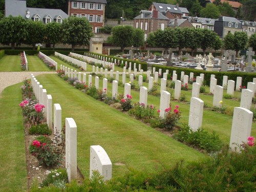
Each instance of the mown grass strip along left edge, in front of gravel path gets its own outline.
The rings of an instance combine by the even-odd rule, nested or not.
[[[19,102],[21,83],[6,88],[0,97],[0,191],[27,189],[25,136]]]

